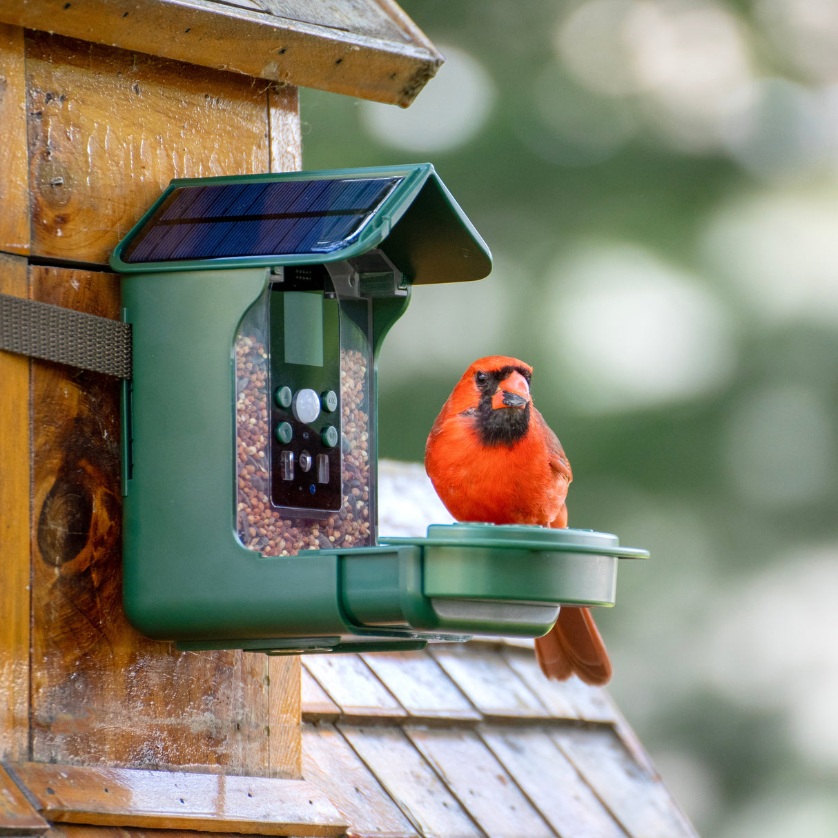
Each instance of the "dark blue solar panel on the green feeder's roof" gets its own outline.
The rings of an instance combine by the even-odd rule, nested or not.
[[[349,245],[402,177],[179,186],[127,247],[126,262],[330,253]]]

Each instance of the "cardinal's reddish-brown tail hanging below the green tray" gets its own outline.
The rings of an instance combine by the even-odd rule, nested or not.
[[[547,678],[566,680],[576,673],[592,686],[611,680],[611,661],[587,608],[563,605],[556,625],[535,640],[535,657]]]

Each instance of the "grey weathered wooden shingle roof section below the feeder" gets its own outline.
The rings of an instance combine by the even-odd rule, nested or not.
[[[608,693],[502,640],[303,658],[303,774],[357,838],[689,838]]]

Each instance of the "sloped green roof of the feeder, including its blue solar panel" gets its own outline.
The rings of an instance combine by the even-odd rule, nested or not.
[[[176,179],[116,246],[111,266],[305,265],[375,247],[415,284],[482,279],[492,267],[430,163]]]

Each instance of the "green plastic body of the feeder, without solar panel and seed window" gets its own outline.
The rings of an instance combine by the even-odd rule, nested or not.
[[[328,262],[337,297],[354,294],[369,306],[365,405],[373,428],[375,362],[411,287],[484,277],[488,249],[429,164],[237,178],[382,172],[403,173],[401,187],[361,241],[319,260]],[[282,270],[313,259],[122,261],[133,235],[171,189],[235,180],[174,181],[111,260],[122,272],[123,314],[133,334],[133,377],[122,406],[123,602],[132,625],[182,649],[418,649],[428,640],[474,634],[541,636],[562,603],[613,605],[618,558],[646,555],[618,546],[614,535],[439,525],[424,539],[381,543],[374,489],[363,542],[265,555],[259,541],[247,538],[240,516],[235,348],[248,313],[282,280]],[[358,259],[370,251],[383,254],[393,271],[365,272]],[[358,287],[341,291],[352,277]],[[373,435],[373,474],[376,457]]]

